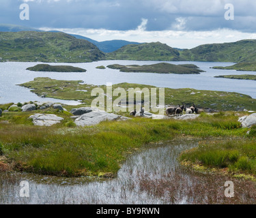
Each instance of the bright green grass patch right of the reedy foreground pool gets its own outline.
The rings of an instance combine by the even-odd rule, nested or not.
[[[203,141],[197,149],[182,153],[180,159],[210,168],[256,175],[256,142],[249,138]]]

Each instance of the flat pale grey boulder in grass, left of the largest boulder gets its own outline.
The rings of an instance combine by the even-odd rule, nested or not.
[[[63,118],[56,116],[55,114],[34,114],[29,116],[29,119],[33,119],[34,125],[39,126],[51,126],[60,123]]]

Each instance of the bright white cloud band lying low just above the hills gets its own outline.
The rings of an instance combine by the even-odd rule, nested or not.
[[[145,23],[145,22],[144,22]],[[236,42],[238,40],[256,39],[256,33],[242,33],[231,29],[214,31],[116,31],[106,29],[51,29],[65,33],[83,35],[99,42],[105,40],[128,40],[132,42],[162,42],[175,48],[194,48],[201,44]]]

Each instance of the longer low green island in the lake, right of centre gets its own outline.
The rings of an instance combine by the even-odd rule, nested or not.
[[[171,63],[156,63],[152,65],[108,65],[111,69],[119,69],[120,72],[156,73],[156,74],[200,74],[203,70],[197,65],[174,65]]]

